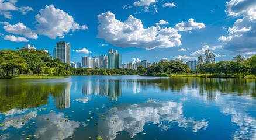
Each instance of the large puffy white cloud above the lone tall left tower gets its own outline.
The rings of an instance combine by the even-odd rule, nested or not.
[[[65,34],[71,30],[88,29],[88,26],[79,25],[72,16],[63,10],[56,9],[54,5],[46,5],[45,9],[41,9],[36,15],[37,33],[48,36],[51,39],[56,37],[64,38]]]

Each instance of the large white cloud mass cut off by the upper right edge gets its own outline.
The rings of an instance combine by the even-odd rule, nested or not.
[[[231,0],[227,2],[228,16],[243,17],[229,27],[228,35],[219,37],[223,48],[235,53],[245,53],[256,49],[256,1]]]

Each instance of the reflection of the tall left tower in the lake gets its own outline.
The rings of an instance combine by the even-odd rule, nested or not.
[[[67,86],[61,90],[60,95],[56,97],[55,101],[58,109],[70,108],[70,88],[71,84],[67,83]]]

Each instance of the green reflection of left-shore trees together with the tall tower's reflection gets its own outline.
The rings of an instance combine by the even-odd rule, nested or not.
[[[57,108],[70,106],[69,83],[4,81],[0,85],[0,111],[43,106],[49,103],[49,95],[56,99]]]

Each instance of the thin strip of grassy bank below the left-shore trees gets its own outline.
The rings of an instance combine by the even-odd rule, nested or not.
[[[64,76],[22,75],[22,76],[2,76],[2,77],[0,77],[0,79],[49,79],[49,78],[64,78]]]

